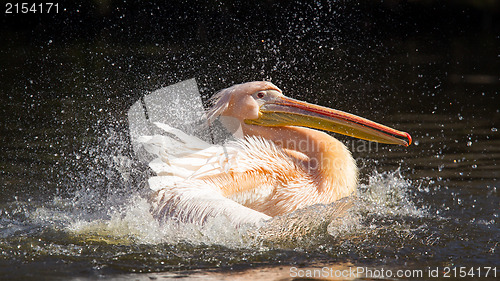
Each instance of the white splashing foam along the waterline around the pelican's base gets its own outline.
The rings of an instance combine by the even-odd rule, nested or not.
[[[82,208],[80,200],[56,197],[52,206],[44,206],[32,213],[32,219],[63,229],[83,240],[99,240],[113,244],[178,244],[222,245],[229,248],[260,247],[262,243],[296,241],[305,243],[313,237],[325,235],[338,239],[362,231],[360,219],[367,214],[381,216],[422,216],[424,212],[412,203],[409,187],[399,170],[374,172],[366,184],[360,184],[358,198],[346,216],[336,219],[338,205],[316,205],[277,217],[261,229],[234,228],[224,217],[208,221],[203,226],[167,221],[160,223],[150,213],[150,204],[139,192],[123,194],[89,194],[102,205],[95,213]],[[88,202],[87,202],[88,203]],[[330,214],[330,215],[328,215]],[[293,223],[294,220],[297,223]],[[294,231],[288,231],[290,227]],[[294,233],[291,233],[294,232]],[[276,238],[279,238],[276,240]],[[293,243],[293,242],[292,242]]]

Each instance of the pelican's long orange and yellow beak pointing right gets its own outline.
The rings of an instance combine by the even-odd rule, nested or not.
[[[359,139],[408,146],[411,136],[368,119],[315,104],[275,96],[265,101],[257,119],[245,120],[260,126],[302,126],[331,131]]]

